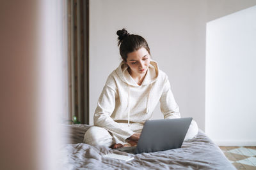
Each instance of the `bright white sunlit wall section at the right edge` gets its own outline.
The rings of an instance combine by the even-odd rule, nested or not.
[[[256,145],[256,6],[207,23],[205,132]]]

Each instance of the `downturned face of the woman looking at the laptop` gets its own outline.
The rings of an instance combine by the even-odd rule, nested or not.
[[[144,47],[141,47],[139,50],[127,53],[126,60],[127,62],[125,63],[130,67],[131,74],[141,76],[141,74],[147,73],[150,54]]]

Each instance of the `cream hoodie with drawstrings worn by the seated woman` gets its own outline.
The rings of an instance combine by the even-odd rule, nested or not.
[[[124,62],[108,76],[94,113],[94,125],[104,127],[125,142],[134,132],[118,122],[144,123],[160,101],[164,118],[180,118],[179,106],[173,97],[168,76],[151,60],[146,76],[138,85]]]

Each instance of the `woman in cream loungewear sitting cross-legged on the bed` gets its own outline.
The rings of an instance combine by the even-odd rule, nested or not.
[[[111,148],[134,146],[146,120],[160,101],[164,118],[180,118],[168,77],[151,59],[147,41],[125,29],[116,32],[122,62],[108,76],[84,143]],[[198,133],[193,120],[186,139]]]

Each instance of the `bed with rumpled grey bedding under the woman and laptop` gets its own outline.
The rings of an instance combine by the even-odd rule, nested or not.
[[[236,169],[220,148],[200,130],[198,136],[182,144],[181,148],[163,152],[130,153],[112,150],[106,146],[83,143],[84,132],[90,125],[65,125],[68,143],[61,147],[61,163],[67,169]],[[108,153],[134,157],[133,160],[110,159]]]

